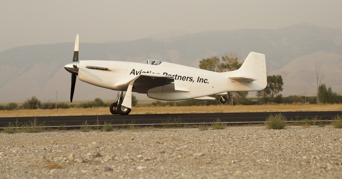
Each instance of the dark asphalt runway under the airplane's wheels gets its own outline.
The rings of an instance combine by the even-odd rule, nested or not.
[[[59,126],[66,124],[66,126],[81,126],[83,122],[87,120],[90,125],[98,121],[102,125],[104,121],[111,121],[112,125],[129,124],[132,120],[135,120],[135,124],[162,124],[162,120],[174,118],[181,118],[184,123],[210,123],[214,122],[216,118],[220,118],[222,122],[226,123],[255,123],[265,122],[265,119],[270,114],[279,114],[278,112],[264,112],[264,113],[202,113],[202,114],[139,114],[139,115],[98,115],[98,116],[45,116],[36,117],[38,122],[45,122],[50,126]],[[321,120],[331,120],[332,117],[340,114],[342,111],[324,111],[324,112],[282,112],[281,114],[287,117],[289,121],[291,118],[301,120],[305,117],[311,119],[318,116]],[[14,123],[18,119],[21,123],[28,123],[29,120],[33,120],[34,117],[2,117],[0,118],[0,128],[4,128],[9,122]]]

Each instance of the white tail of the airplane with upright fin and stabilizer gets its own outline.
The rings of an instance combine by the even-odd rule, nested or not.
[[[253,83],[253,90],[262,90],[267,86],[265,55],[250,52],[242,66],[231,72],[223,72],[228,78],[236,81],[248,81]]]

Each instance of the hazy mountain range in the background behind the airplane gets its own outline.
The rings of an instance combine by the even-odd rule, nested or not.
[[[251,51],[264,53],[266,64],[271,69],[268,74],[280,74],[284,78],[283,95],[304,94],[304,86],[315,89],[313,65],[317,62],[321,64],[321,74],[324,75],[322,83],[342,93],[339,77],[339,68],[342,67],[342,29],[299,24],[275,30],[207,31],[111,43],[82,43],[80,37],[79,60],[141,62],[158,59],[198,67],[203,58],[229,52],[236,52],[242,58]],[[25,96],[25,92],[69,91],[71,75],[65,71],[64,65],[72,60],[73,50],[74,42],[22,46],[1,52],[0,102],[22,100],[19,94]],[[74,99],[93,99],[101,94],[93,92],[86,97],[78,97],[77,91],[85,89],[107,93],[78,80]],[[315,94],[315,90],[312,92],[308,89],[307,94]],[[67,100],[68,94],[65,93],[65,97],[59,96],[59,99]],[[25,99],[28,97],[30,95]],[[47,100],[51,100],[50,97]]]

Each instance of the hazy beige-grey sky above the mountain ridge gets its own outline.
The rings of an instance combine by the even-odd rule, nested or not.
[[[171,30],[342,29],[341,0],[1,0],[0,52],[17,46],[139,39]]]

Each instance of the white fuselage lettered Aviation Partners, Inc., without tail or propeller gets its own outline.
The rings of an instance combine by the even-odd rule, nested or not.
[[[88,68],[87,68],[88,66]],[[107,70],[94,69],[102,67]],[[226,75],[203,69],[162,62],[159,65],[121,61],[79,61],[78,77],[89,84],[118,91],[126,91],[128,82],[141,74],[161,74],[174,77],[174,83],[184,90],[132,89],[132,92],[146,93],[150,98],[160,100],[184,100],[232,91],[252,89]]]

